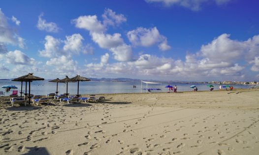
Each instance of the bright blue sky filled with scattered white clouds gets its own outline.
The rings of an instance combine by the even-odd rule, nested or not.
[[[259,81],[258,0],[1,0],[0,78]]]

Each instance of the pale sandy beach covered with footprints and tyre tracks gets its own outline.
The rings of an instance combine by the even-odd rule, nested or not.
[[[0,155],[259,153],[259,89],[101,95],[26,107],[0,97]]]

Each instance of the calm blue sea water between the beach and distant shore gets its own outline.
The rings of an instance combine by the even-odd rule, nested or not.
[[[9,81],[9,80],[0,80],[0,86],[3,85],[15,85],[18,87],[18,92],[21,91],[21,82]],[[136,88],[133,88],[133,85]],[[162,83],[162,92],[167,92],[168,89],[164,88],[167,85],[177,85],[178,92],[192,91],[193,89],[190,86],[195,85],[198,88],[198,91],[208,91],[209,87],[207,84],[177,84],[177,83]],[[56,92],[57,83],[48,82],[48,81],[33,81],[31,83],[31,93],[36,95],[45,95],[48,93]],[[250,86],[246,85],[232,85],[234,88],[250,88]],[[215,90],[219,89],[219,85],[215,85]],[[142,83],[142,88],[146,88],[146,84]],[[149,84],[148,88],[161,88],[161,84]],[[0,91],[5,91],[5,89],[0,88]],[[28,89],[29,92],[29,83]],[[12,92],[12,90],[10,91]],[[23,92],[25,92],[25,82],[23,82]],[[58,84],[58,92],[66,93],[66,84],[59,83]],[[146,92],[142,90],[142,92]],[[152,92],[161,92],[152,91]],[[76,83],[68,83],[68,93],[77,94],[77,82]],[[79,94],[103,94],[103,93],[141,93],[141,82],[79,82]],[[8,93],[5,93],[8,94]]]

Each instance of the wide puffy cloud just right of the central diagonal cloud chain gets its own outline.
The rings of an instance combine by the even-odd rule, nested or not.
[[[161,42],[159,45],[160,50],[165,51],[171,48],[167,45],[166,37],[161,35],[156,27],[150,29],[139,27],[129,31],[127,36],[134,46],[149,47]]]

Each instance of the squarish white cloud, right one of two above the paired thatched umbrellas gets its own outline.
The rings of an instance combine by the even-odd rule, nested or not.
[[[76,33],[70,36],[65,36],[65,38],[65,45],[63,47],[64,51],[76,52],[77,54],[79,54],[83,47],[83,36]]]

